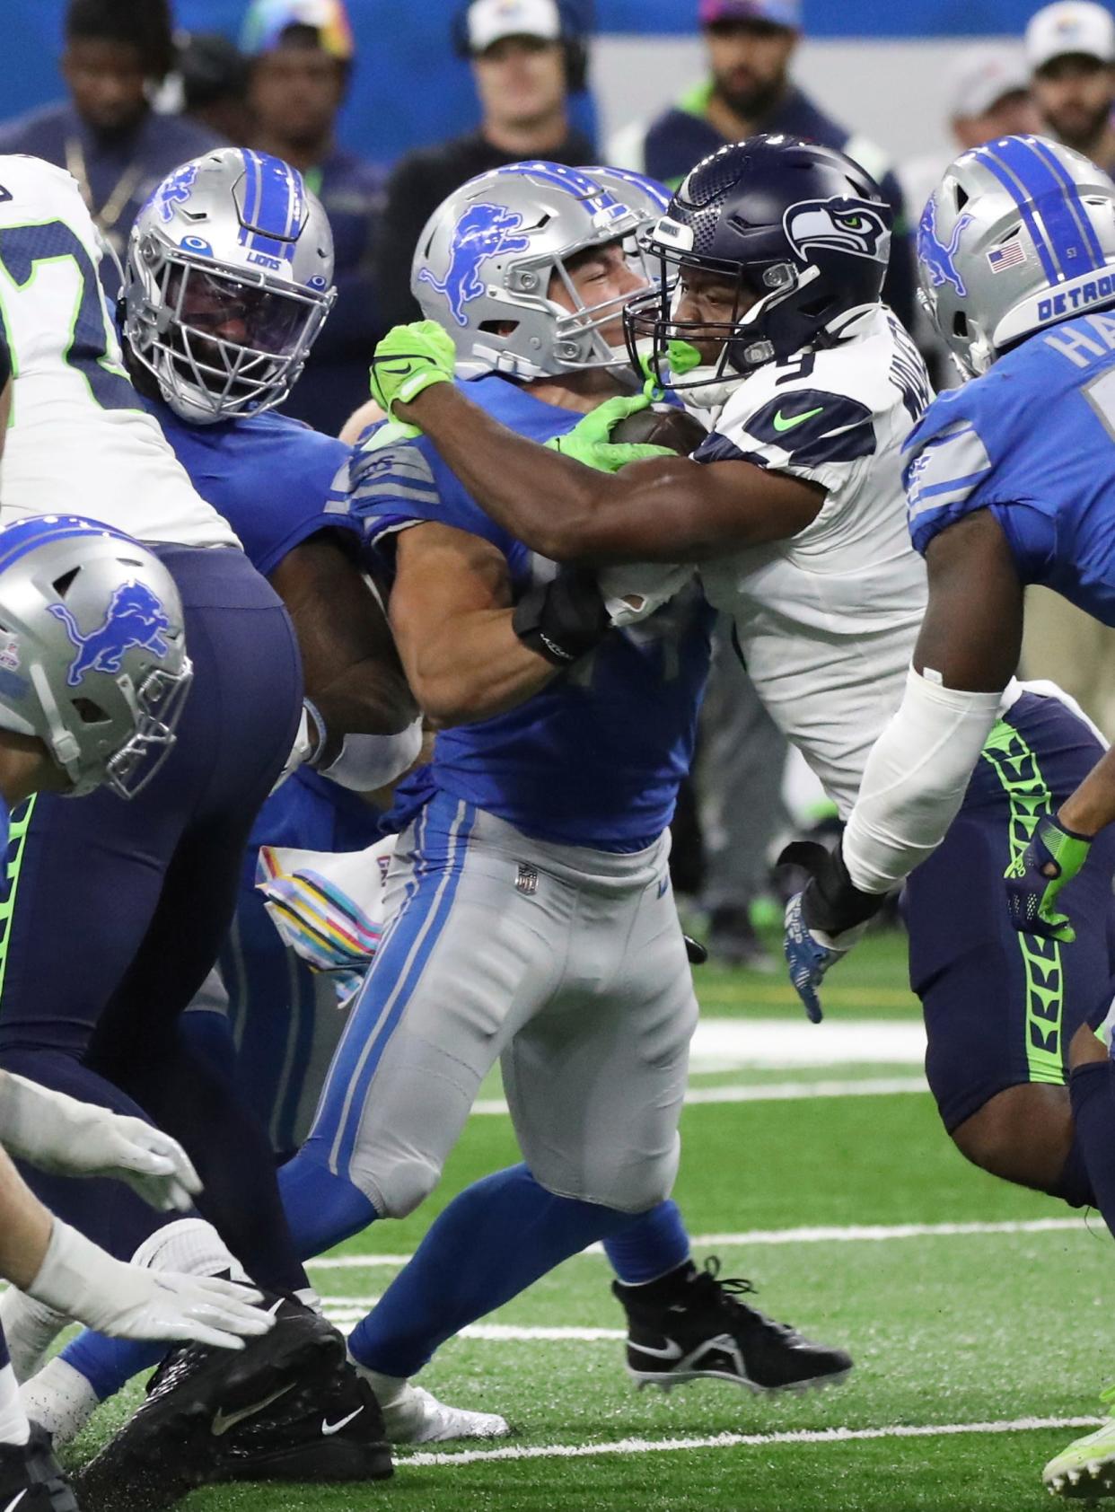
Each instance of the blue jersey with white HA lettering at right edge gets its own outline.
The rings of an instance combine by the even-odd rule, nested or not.
[[[907,457],[920,552],[947,525],[990,510],[1021,582],[1115,626],[1115,314],[1032,336],[940,395]]]

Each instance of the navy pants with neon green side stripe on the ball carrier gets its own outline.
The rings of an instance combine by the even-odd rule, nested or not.
[[[1008,863],[1103,753],[1059,699],[1024,692],[996,724],[941,847],[913,872],[903,912],[910,984],[929,1037],[926,1075],[952,1132],[1024,1083],[1064,1086],[1068,1046],[1110,1004],[1115,829],[1061,895],[1076,940],[1020,934],[1003,892]]]

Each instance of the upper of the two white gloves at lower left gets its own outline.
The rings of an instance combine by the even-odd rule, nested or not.
[[[0,1145],[53,1176],[115,1176],[160,1213],[201,1191],[186,1151],[162,1129],[0,1072]]]

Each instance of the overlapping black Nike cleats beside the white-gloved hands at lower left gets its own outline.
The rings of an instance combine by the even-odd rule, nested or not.
[[[292,1297],[273,1311],[270,1334],[242,1352],[186,1344],[166,1356],[147,1400],[77,1477],[85,1512],[160,1512],[230,1480],[393,1473],[379,1403],[343,1337]]]

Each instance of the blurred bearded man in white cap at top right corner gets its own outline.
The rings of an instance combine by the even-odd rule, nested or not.
[[[1091,0],[1062,0],[1030,17],[1026,56],[1046,127],[1067,147],[1115,171],[1115,18]]]

